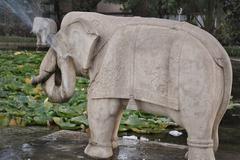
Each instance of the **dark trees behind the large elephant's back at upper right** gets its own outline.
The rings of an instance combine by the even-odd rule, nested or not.
[[[135,16],[168,18],[183,9],[186,21],[213,34],[223,45],[240,44],[239,0],[104,0]],[[199,20],[201,18],[201,20]]]

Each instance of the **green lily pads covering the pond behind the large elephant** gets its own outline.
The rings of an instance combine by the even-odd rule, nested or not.
[[[48,102],[41,86],[30,84],[43,56],[36,52],[0,51],[0,126],[42,125],[85,131],[88,79],[78,78],[75,94],[68,103]],[[172,125],[175,123],[165,117],[127,110],[120,131],[159,133]]]

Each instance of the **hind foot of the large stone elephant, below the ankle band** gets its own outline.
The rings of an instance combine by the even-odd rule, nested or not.
[[[189,148],[185,158],[188,160],[215,160],[213,148]]]

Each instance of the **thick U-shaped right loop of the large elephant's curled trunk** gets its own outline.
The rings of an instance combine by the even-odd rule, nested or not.
[[[58,59],[58,67],[54,74],[43,84],[49,101],[62,103],[68,101],[76,83],[76,72],[71,57]]]

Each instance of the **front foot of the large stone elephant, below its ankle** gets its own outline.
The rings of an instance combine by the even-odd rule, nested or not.
[[[93,158],[107,159],[112,157],[112,147],[106,147],[102,145],[88,144],[84,150],[84,153]]]

